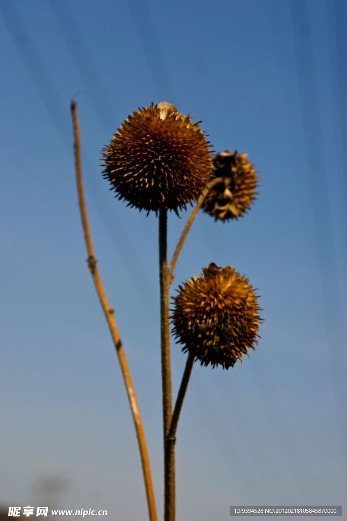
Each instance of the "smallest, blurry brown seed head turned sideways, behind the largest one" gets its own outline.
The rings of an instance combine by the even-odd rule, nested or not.
[[[230,154],[229,150],[213,158],[212,179],[220,178],[204,199],[202,208],[215,220],[237,219],[255,200],[258,176],[247,159],[247,152]]]

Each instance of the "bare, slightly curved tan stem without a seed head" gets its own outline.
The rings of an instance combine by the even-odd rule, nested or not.
[[[114,319],[114,309],[111,309],[106,293],[104,291],[104,287],[102,286],[101,279],[99,276],[99,272],[96,266],[97,259],[94,256],[93,244],[91,233],[89,231],[87,212],[84,202],[84,194],[83,194],[83,184],[82,184],[82,168],[81,168],[81,154],[80,154],[80,135],[79,135],[79,123],[77,116],[77,108],[76,102],[73,100],[71,102],[71,113],[72,113],[72,122],[73,122],[73,133],[74,133],[74,153],[75,153],[75,168],[76,168],[76,181],[78,187],[78,195],[79,195],[79,205],[82,219],[82,226],[84,232],[84,239],[86,243],[87,253],[88,253],[88,266],[91,271],[95,288],[97,294],[99,296],[99,300],[104,310],[104,314],[107,320],[107,324],[109,326],[111,336],[113,339],[113,343],[115,346],[115,350],[118,355],[119,363],[121,366],[121,371],[124,378],[124,383],[126,387],[126,392],[128,395],[128,399],[130,402],[131,411],[133,414],[136,436],[138,441],[138,446],[140,450],[142,469],[144,473],[145,487],[146,487],[146,495],[147,495],[147,503],[148,503],[148,511],[149,511],[149,519],[150,521],[157,521],[156,514],[156,505],[152,487],[152,480],[150,475],[150,467],[149,467],[149,459],[146,448],[146,440],[145,434],[142,426],[142,421],[140,417],[140,413],[138,410],[137,400],[135,396],[134,386],[131,380],[130,371],[127,366],[125,354],[123,351],[122,342],[119,336],[118,327]]]

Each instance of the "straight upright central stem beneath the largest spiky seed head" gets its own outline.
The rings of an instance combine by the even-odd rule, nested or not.
[[[169,279],[167,260],[168,211],[159,213],[159,278],[160,278],[160,324],[161,324],[161,373],[163,392],[163,435],[164,435],[164,519],[175,519],[175,446],[168,440],[172,416],[170,324],[169,324]]]

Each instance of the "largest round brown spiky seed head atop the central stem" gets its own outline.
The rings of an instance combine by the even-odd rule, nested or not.
[[[102,155],[103,177],[118,199],[148,212],[185,208],[211,177],[204,132],[167,102],[128,116]]]

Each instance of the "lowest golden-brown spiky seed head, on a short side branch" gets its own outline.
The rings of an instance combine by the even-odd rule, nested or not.
[[[248,279],[232,266],[211,263],[203,274],[179,286],[173,297],[173,332],[182,351],[201,365],[228,369],[258,344],[260,308]]]

